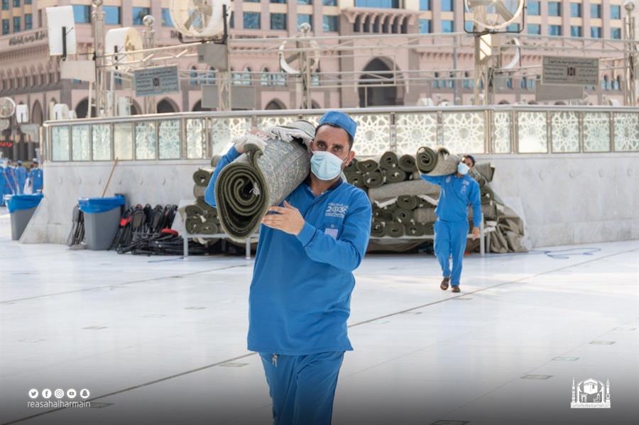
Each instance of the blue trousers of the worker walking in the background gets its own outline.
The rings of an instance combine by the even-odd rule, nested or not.
[[[450,277],[450,285],[458,286],[461,278],[461,260],[466,250],[468,221],[435,221],[435,255],[442,267],[442,276]],[[452,273],[449,258],[452,257]]]

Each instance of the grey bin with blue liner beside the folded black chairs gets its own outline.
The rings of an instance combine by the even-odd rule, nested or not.
[[[120,224],[124,196],[110,198],[80,198],[77,201],[84,213],[84,242],[92,250],[107,250]]]

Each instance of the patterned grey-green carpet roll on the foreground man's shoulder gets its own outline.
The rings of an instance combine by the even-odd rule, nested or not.
[[[290,127],[315,137],[315,127],[308,121],[295,121]],[[246,149],[224,167],[215,185],[220,225],[234,241],[256,233],[268,208],[280,204],[310,170],[310,153],[297,140],[272,139],[264,150],[254,145]]]

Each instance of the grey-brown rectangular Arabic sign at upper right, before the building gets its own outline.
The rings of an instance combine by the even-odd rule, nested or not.
[[[599,85],[599,59],[545,56],[543,84]]]

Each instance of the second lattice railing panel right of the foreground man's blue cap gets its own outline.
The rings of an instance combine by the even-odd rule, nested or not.
[[[437,114],[398,114],[395,118],[397,153],[415,155],[422,146],[437,145]]]

